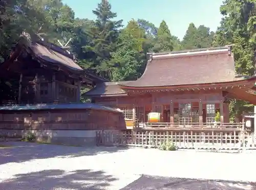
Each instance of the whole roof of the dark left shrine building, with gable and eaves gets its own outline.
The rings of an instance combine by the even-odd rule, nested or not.
[[[32,38],[32,37],[31,37]],[[33,36],[33,40],[28,37],[22,36],[17,43],[15,49],[12,51],[10,58],[0,66],[3,69],[10,70],[15,67],[14,60],[20,56],[25,56],[24,52],[28,53],[33,60],[38,61],[42,67],[49,67],[54,70],[62,70],[68,72],[70,75],[79,75],[84,78],[86,77],[97,82],[108,82],[108,80],[84,71],[77,63],[74,55],[67,52],[60,46],[53,43],[43,41]],[[25,50],[25,51],[24,51]],[[19,67],[19,66],[18,66]]]

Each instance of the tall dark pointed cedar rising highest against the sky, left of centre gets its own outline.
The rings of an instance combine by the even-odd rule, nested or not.
[[[105,0],[98,4],[93,14],[96,15],[94,26],[91,28],[91,34],[94,35],[93,51],[96,55],[93,66],[100,76],[110,78],[114,66],[111,62],[111,53],[116,50],[122,20],[113,20],[117,15],[111,11],[111,5]]]

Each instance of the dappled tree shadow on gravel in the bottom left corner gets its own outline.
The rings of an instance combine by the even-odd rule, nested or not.
[[[40,172],[15,175],[14,179],[0,183],[0,189],[32,190],[32,189],[106,189],[110,182],[117,180],[102,171],[76,170],[45,170]]]

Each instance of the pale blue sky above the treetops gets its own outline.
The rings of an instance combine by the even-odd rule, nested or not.
[[[157,27],[162,20],[172,35],[182,39],[190,22],[197,27],[205,25],[216,31],[221,21],[220,5],[223,0],[109,0],[117,19],[126,25],[131,19],[145,19]],[[62,0],[75,12],[75,17],[95,19],[95,10],[101,0]]]

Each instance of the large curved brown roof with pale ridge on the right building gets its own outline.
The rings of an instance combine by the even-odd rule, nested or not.
[[[232,82],[237,76],[228,47],[153,53],[143,75],[124,87],[161,87]]]

